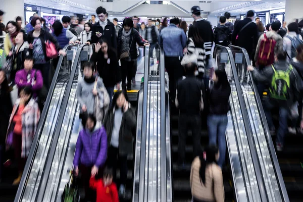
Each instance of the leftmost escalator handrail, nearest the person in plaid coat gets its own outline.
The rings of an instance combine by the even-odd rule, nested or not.
[[[67,49],[70,46],[74,46],[74,44],[66,45],[63,48],[63,51],[66,52]],[[55,74],[54,74],[54,77],[53,77],[52,84],[49,87],[48,94],[47,94],[45,104],[44,104],[44,108],[43,108],[41,116],[40,116],[40,120],[39,120],[37,129],[36,129],[36,132],[35,132],[35,136],[34,136],[33,141],[32,141],[32,146],[30,148],[30,151],[29,151],[29,154],[28,154],[28,157],[27,157],[27,161],[26,161],[26,164],[25,164],[25,167],[24,167],[24,170],[23,170],[23,175],[22,175],[22,178],[21,178],[16,196],[15,196],[15,200],[14,200],[15,202],[20,201],[21,198],[22,198],[22,195],[23,195],[23,192],[24,192],[24,187],[25,187],[27,178],[30,174],[31,167],[33,165],[34,155],[35,155],[36,150],[38,148],[38,141],[39,141],[40,135],[43,131],[42,129],[43,129],[43,125],[44,125],[45,120],[46,120],[47,111],[48,111],[49,106],[51,105],[51,99],[52,99],[54,89],[55,89],[55,86],[56,86],[56,83],[57,83],[57,80],[58,80],[58,77],[59,77],[59,72],[60,72],[60,68],[61,68],[64,57],[65,56],[63,56],[63,55],[60,56],[59,61],[58,61],[58,65],[57,65],[57,68],[56,68],[56,71],[55,71]]]

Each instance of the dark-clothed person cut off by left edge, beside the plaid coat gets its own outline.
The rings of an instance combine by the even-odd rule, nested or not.
[[[10,115],[13,110],[9,81],[4,69],[0,69],[0,180],[3,175],[3,160],[6,150],[6,134],[9,127]]]

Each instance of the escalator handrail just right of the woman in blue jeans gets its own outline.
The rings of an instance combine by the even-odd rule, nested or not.
[[[216,57],[216,55],[217,55],[218,47],[221,48],[221,49],[225,49],[226,53],[229,56],[230,66],[231,66],[232,74],[233,74],[233,77],[234,77],[236,91],[237,91],[237,94],[238,94],[239,104],[240,104],[240,108],[241,108],[241,112],[242,112],[244,128],[245,128],[245,132],[246,132],[246,135],[247,135],[248,145],[249,145],[249,148],[250,148],[252,163],[254,164],[254,168],[255,168],[258,188],[259,188],[259,191],[260,191],[261,200],[263,202],[265,202],[265,201],[268,201],[268,198],[267,198],[267,194],[266,194],[266,191],[265,191],[264,179],[262,177],[261,167],[260,167],[257,151],[256,151],[256,148],[255,148],[255,143],[254,143],[254,140],[252,139],[251,128],[250,128],[249,119],[248,119],[248,113],[246,111],[245,102],[244,102],[244,98],[243,98],[243,95],[242,95],[241,86],[240,86],[240,82],[239,82],[239,79],[238,79],[238,74],[237,74],[237,71],[236,71],[234,58],[233,58],[233,55],[232,55],[232,52],[231,52],[230,48],[226,47],[226,46],[222,46],[222,45],[216,45],[215,46],[214,57]],[[245,109],[245,110],[243,110],[243,109]]]

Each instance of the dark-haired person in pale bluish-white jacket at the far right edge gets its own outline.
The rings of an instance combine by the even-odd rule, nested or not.
[[[298,24],[293,22],[288,25],[288,34],[283,37],[283,51],[287,53],[287,60],[295,57],[291,55],[292,52],[292,40],[296,40],[295,38],[302,40],[302,36],[299,34]]]

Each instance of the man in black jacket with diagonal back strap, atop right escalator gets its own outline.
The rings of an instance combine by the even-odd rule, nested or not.
[[[232,33],[232,44],[245,48],[250,59],[258,44],[258,29],[254,20],[254,11],[248,11],[246,18],[237,23]],[[249,23],[249,24],[248,24]]]

